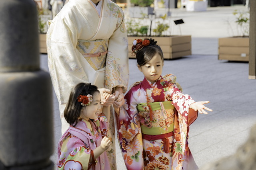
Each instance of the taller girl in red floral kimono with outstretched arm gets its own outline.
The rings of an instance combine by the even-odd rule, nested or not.
[[[134,40],[138,69],[145,78],[115,106],[118,138],[128,170],[196,170],[188,148],[189,125],[205,102],[181,92],[173,74],[161,76],[164,58],[154,39]],[[205,109],[205,110],[204,110]]]

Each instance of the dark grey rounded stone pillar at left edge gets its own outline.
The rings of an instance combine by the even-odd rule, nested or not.
[[[53,170],[52,83],[33,0],[0,1],[0,169]]]

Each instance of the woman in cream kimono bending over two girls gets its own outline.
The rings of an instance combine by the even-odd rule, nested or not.
[[[96,6],[97,5],[97,6]],[[62,133],[68,128],[63,111],[70,90],[79,82],[122,94],[128,85],[128,43],[122,9],[110,0],[69,0],[48,22],[48,66],[60,107]],[[115,169],[114,117],[107,154]]]

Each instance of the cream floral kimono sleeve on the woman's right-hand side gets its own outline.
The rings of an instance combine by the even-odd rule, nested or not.
[[[126,27],[124,22],[124,13],[117,5],[112,5],[109,8],[112,11],[117,11],[118,21],[116,30],[108,41],[108,54],[106,59],[106,86],[108,89],[114,87],[122,87],[123,92],[126,92],[129,80],[128,69],[128,40]]]

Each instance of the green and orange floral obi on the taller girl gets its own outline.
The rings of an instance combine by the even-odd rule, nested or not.
[[[163,139],[172,136],[174,130],[174,109],[170,101],[138,104],[138,119],[145,139],[152,137]],[[152,112],[152,121],[150,120]],[[157,137],[157,136],[158,137]]]

